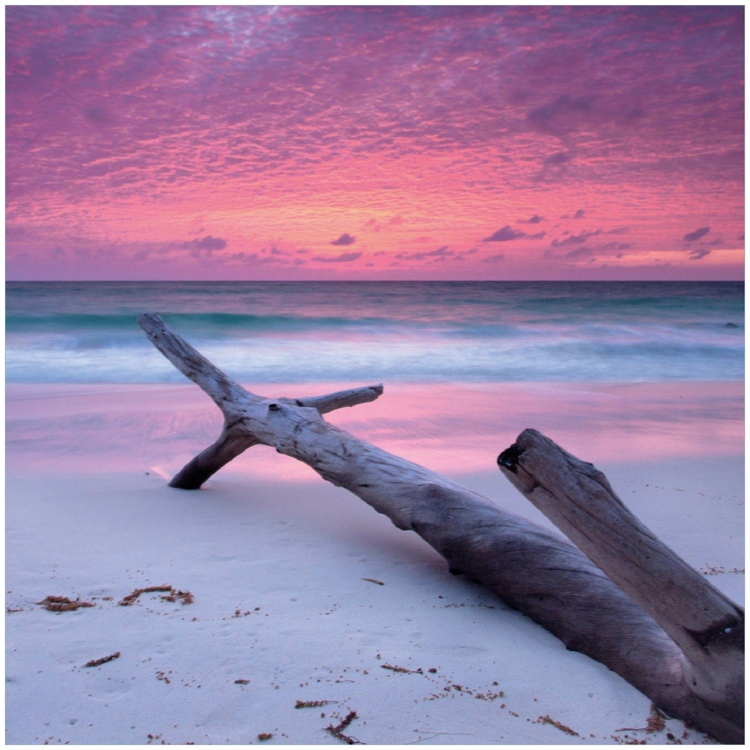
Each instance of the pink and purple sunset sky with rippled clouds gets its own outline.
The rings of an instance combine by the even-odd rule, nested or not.
[[[7,7],[7,278],[741,279],[743,37],[742,7]]]

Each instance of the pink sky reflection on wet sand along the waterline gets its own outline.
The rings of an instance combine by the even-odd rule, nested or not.
[[[314,395],[351,385],[251,388]],[[10,466],[28,461],[65,470],[74,461],[77,471],[99,472],[145,465],[166,477],[213,442],[221,425],[195,386],[13,385],[7,398]],[[742,383],[386,384],[374,403],[326,419],[449,475],[494,471],[496,455],[528,427],[593,462],[738,456],[743,449]],[[223,471],[314,478],[307,466],[266,447]]]

